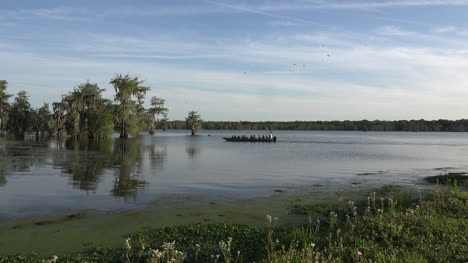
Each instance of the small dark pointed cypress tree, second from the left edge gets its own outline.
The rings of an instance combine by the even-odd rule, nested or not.
[[[7,122],[8,131],[17,137],[24,138],[31,129],[31,112],[28,94],[24,90],[18,92],[10,110]]]

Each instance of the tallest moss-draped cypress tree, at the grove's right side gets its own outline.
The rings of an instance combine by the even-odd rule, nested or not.
[[[142,122],[141,108],[148,87],[143,87],[143,81],[129,75],[117,75],[111,79],[114,86],[117,104],[116,124],[120,128],[120,138],[128,138],[129,134],[137,134]]]

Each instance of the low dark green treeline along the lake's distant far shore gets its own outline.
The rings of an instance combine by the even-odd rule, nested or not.
[[[185,121],[168,121],[168,129],[185,129]],[[412,131],[465,132],[468,119],[462,120],[399,120],[399,121],[205,121],[205,130],[310,130],[310,131]]]

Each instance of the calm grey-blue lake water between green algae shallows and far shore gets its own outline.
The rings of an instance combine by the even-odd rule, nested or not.
[[[423,185],[437,168],[468,167],[468,133],[282,131],[276,144],[222,140],[233,133],[242,134],[171,131],[97,143],[0,138],[0,216],[118,211],[166,196],[248,198],[313,185]]]

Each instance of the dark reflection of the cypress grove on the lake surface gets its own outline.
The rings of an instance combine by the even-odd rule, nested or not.
[[[146,158],[145,158],[146,156]],[[144,145],[132,139],[45,139],[10,140],[0,138],[0,187],[10,175],[67,176],[74,189],[96,192],[106,176],[116,197],[134,197],[147,182],[141,176],[167,161],[166,145]],[[145,165],[147,163],[147,165]],[[37,168],[43,168],[38,172]],[[108,180],[106,180],[108,181]]]

